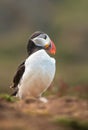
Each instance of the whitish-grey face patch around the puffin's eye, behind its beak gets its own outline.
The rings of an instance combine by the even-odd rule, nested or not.
[[[32,39],[36,46],[45,47],[46,45],[50,45],[50,38],[47,34],[40,34],[39,36]]]

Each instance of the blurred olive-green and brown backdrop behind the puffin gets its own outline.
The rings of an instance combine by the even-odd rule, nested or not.
[[[57,48],[54,86],[88,87],[88,0],[0,0],[0,93],[9,93],[37,30]]]

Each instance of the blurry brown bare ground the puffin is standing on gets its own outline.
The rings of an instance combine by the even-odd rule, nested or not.
[[[70,96],[48,99],[42,103],[32,98],[15,102],[0,98],[0,130],[70,130],[73,127],[60,125],[60,119],[88,121],[87,100]]]

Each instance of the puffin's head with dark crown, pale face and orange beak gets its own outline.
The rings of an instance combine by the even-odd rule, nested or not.
[[[33,33],[28,40],[28,44],[27,44],[28,55],[31,55],[32,53],[40,49],[45,49],[45,50],[53,49],[53,42],[51,41],[51,39],[46,33],[37,31]]]

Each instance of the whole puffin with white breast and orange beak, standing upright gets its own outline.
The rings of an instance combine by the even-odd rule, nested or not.
[[[10,86],[14,89],[11,96],[19,99],[33,97],[47,102],[42,94],[55,76],[56,61],[49,55],[56,53],[55,44],[46,33],[36,31],[28,40],[27,53],[27,58],[18,66]]]

